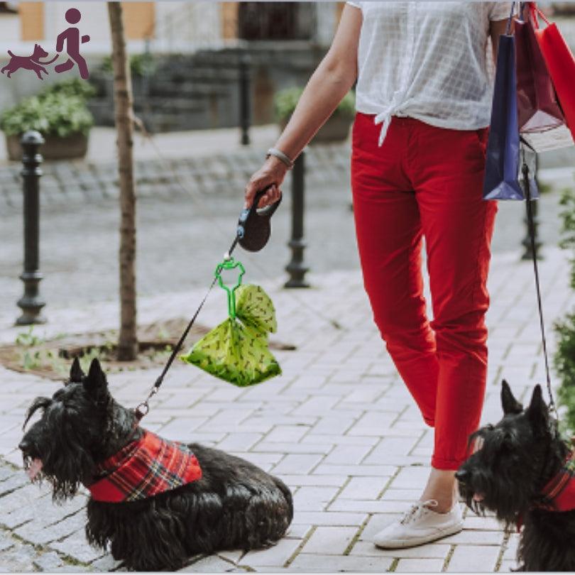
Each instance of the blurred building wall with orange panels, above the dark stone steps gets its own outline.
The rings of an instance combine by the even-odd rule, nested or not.
[[[186,53],[223,48],[241,40],[307,40],[327,45],[332,39],[343,2],[122,2],[128,47],[146,40],[154,51]],[[110,36],[106,3],[82,1],[77,26],[90,35],[84,53],[107,54]],[[3,9],[4,7],[4,9]],[[70,2],[1,2],[0,49],[26,54],[38,42],[53,50],[67,26]]]

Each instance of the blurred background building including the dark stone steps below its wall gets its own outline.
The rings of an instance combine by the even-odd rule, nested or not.
[[[126,1],[124,23],[128,53],[151,65],[133,70],[136,114],[150,131],[237,126],[239,62],[250,60],[253,124],[274,121],[273,95],[303,87],[324,56],[339,23],[344,2]],[[575,17],[567,3],[553,18],[575,47]],[[77,23],[90,81],[97,97],[90,104],[97,124],[112,125],[112,77],[102,67],[111,52],[106,3],[77,3]],[[68,24],[68,1],[0,2],[0,66],[9,56],[31,54],[39,43],[52,57],[57,35]],[[67,72],[76,74],[77,72]],[[45,84],[62,80],[50,73],[43,81],[26,71],[0,81],[0,102],[9,106]]]

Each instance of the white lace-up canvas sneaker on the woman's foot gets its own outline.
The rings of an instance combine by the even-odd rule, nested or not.
[[[459,503],[455,503],[448,513],[437,513],[427,505],[435,507],[437,501],[418,501],[400,520],[394,521],[373,537],[373,542],[382,549],[415,547],[454,535],[463,529],[464,520]]]

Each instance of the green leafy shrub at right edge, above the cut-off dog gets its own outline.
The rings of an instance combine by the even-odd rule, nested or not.
[[[573,254],[569,260],[569,285],[575,290],[575,192],[569,188],[563,190],[559,203],[564,207],[560,213],[563,220],[563,237],[559,246],[563,249],[570,248]],[[566,314],[562,321],[554,323],[553,328],[557,336],[557,351],[553,356],[553,364],[561,380],[559,404],[566,408],[562,429],[572,433],[575,432],[575,312]]]

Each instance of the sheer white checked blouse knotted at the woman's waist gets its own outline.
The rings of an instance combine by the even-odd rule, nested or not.
[[[491,119],[489,22],[511,2],[358,2],[356,110],[376,114],[383,143],[392,116],[476,130]]]

